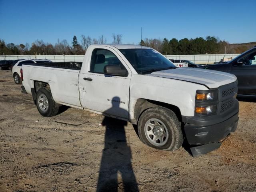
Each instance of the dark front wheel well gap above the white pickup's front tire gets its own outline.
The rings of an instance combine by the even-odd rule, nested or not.
[[[180,122],[182,122],[182,116],[181,116],[180,108],[178,108],[177,106],[172,105],[172,104],[168,104],[168,103],[164,103],[164,102],[159,102],[159,101],[154,101],[154,100],[149,100],[149,99],[143,99],[143,98],[139,98],[136,101],[136,104],[134,106],[134,119],[131,120],[131,122],[133,124],[138,124],[138,120],[139,120],[141,114],[144,111],[146,111],[149,108],[158,107],[158,106],[162,106],[162,107],[165,107],[165,108],[168,108],[168,109],[172,110],[176,114],[178,120]]]

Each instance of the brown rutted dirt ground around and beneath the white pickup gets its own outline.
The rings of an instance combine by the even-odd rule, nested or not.
[[[63,108],[44,118],[11,72],[0,71],[0,191],[256,191],[256,101],[249,101],[240,101],[236,132],[193,158],[184,148],[149,148],[132,124],[91,112]]]

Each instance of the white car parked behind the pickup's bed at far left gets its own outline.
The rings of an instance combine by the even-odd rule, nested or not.
[[[24,59],[18,61],[14,66],[12,67],[12,76],[14,78],[14,82],[16,84],[22,84],[22,81],[20,80],[20,69],[22,64],[30,64],[30,63],[47,63],[47,62],[52,62],[51,60],[47,59]]]

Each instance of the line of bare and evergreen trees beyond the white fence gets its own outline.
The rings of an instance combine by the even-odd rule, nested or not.
[[[73,36],[71,45],[66,39],[58,39],[54,45],[45,43],[43,40],[36,40],[32,44],[15,45],[14,43],[6,44],[4,40],[0,39],[0,55],[84,55],[91,44],[106,44],[106,42],[107,39],[104,35],[98,38],[81,35],[80,41],[76,36]],[[121,44],[122,34],[112,34],[112,43]],[[167,38],[144,38],[138,44],[154,48],[164,55],[235,54],[250,48],[247,44],[229,44],[227,41],[219,40],[214,36],[194,39],[183,38],[181,40],[176,38],[170,40]]]

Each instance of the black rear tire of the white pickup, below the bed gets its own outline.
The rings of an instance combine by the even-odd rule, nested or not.
[[[44,97],[47,99],[47,102],[48,102],[48,107],[45,110],[42,109],[42,106],[44,106],[44,105],[41,105],[41,107],[39,105],[40,102],[42,103],[42,99]],[[49,86],[40,88],[37,91],[37,93],[36,93],[36,107],[37,107],[39,113],[44,117],[51,117],[51,116],[55,116],[56,114],[58,114],[60,104],[57,104],[53,100],[52,93],[51,93],[51,90],[50,90]]]

